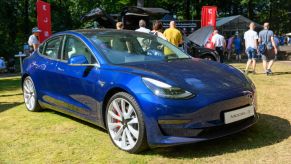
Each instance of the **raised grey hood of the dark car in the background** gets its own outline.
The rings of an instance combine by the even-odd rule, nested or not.
[[[195,32],[190,34],[187,38],[192,42],[198,44],[199,46],[204,47],[204,45],[207,43],[207,40],[211,36],[212,32],[213,27],[206,26],[196,30]]]

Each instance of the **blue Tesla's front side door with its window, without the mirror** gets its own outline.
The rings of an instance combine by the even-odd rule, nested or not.
[[[92,66],[72,66],[68,64],[69,58],[75,55],[86,57]],[[58,92],[62,95],[65,110],[79,115],[82,118],[100,120],[100,100],[98,100],[98,79],[100,70],[94,67],[97,63],[90,48],[78,37],[66,35],[63,45],[62,61],[56,67],[55,80],[62,87]]]

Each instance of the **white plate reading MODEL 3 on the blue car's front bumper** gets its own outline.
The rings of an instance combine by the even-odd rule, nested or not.
[[[224,123],[229,124],[255,115],[254,106],[247,106],[241,109],[224,113]]]

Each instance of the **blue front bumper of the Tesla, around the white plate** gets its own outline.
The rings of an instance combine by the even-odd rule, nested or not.
[[[245,93],[229,92],[217,97],[204,94],[190,100],[140,95],[139,104],[144,112],[149,145],[162,147],[195,143],[227,136],[250,127],[258,119],[256,112],[252,117],[230,124],[224,123],[223,114],[226,111],[249,105],[253,105],[256,111],[255,93]]]

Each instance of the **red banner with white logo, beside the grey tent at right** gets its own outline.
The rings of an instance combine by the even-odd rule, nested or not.
[[[203,6],[201,13],[201,27],[213,26],[216,27],[216,6]]]

